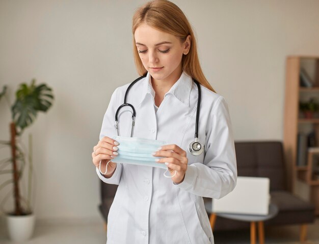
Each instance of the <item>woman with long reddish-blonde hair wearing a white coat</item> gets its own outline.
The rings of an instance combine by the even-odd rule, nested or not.
[[[163,157],[158,163],[173,177],[164,177],[161,168],[112,162],[119,145],[111,139],[117,134],[115,114],[129,83],[116,88],[92,153],[99,178],[118,185],[107,243],[214,243],[202,197],[225,196],[237,177],[227,102],[206,80],[191,25],[175,4],[151,1],[137,9],[132,34],[137,71],[146,75],[126,98],[136,109],[133,137],[167,141],[154,156]],[[200,83],[198,140],[204,147],[195,156],[188,149],[199,98],[193,79]],[[124,137],[131,136],[128,110],[118,114]]]

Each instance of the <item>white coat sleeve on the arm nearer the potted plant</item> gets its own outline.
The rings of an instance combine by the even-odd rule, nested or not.
[[[116,135],[116,129],[115,129],[115,113],[116,109],[118,108],[118,96],[117,96],[118,88],[116,88],[111,96],[111,100],[108,106],[107,111],[104,114],[102,127],[99,135],[99,140],[101,140],[104,136],[108,136],[112,138],[112,136]],[[114,184],[119,185],[119,182],[121,180],[121,172],[122,172],[123,165],[117,164],[116,169],[112,177],[105,178],[98,168],[96,168],[96,173],[98,177],[108,184]]]

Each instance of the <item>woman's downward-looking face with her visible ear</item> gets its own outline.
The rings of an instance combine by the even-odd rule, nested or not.
[[[182,55],[189,52],[191,36],[181,43],[177,37],[143,23],[134,37],[143,66],[155,80],[176,81],[180,77]]]

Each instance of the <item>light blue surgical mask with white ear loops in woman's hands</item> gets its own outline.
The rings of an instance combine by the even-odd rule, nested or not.
[[[118,155],[111,160],[112,162],[162,168],[162,169],[166,169],[166,171],[164,172],[165,177],[171,178],[175,176],[176,171],[173,176],[167,176],[165,174],[168,171],[167,166],[163,163],[156,162],[156,159],[160,159],[163,157],[152,156],[152,153],[157,151],[159,147],[167,144],[166,141],[137,138],[137,137],[122,137],[122,136],[114,136],[112,137],[112,139],[114,139],[115,141],[119,143],[119,145],[117,146]],[[108,169],[108,165],[107,165],[107,169]],[[99,170],[101,171],[100,167],[99,167]],[[107,171],[105,171],[105,173],[103,172],[101,173],[106,174],[106,172]]]

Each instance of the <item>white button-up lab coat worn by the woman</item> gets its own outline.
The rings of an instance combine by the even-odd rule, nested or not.
[[[129,84],[118,87],[105,112],[99,138],[116,135],[115,112]],[[176,144],[187,152],[184,180],[173,184],[164,169],[118,164],[107,184],[118,186],[108,216],[108,244],[214,243],[202,197],[221,198],[236,185],[237,169],[231,120],[226,100],[201,85],[200,156],[188,151],[194,141],[197,85],[186,73],[165,94],[156,111],[150,74],[129,90],[127,102],[136,109],[134,137]],[[130,136],[131,113],[119,112],[120,136]]]

